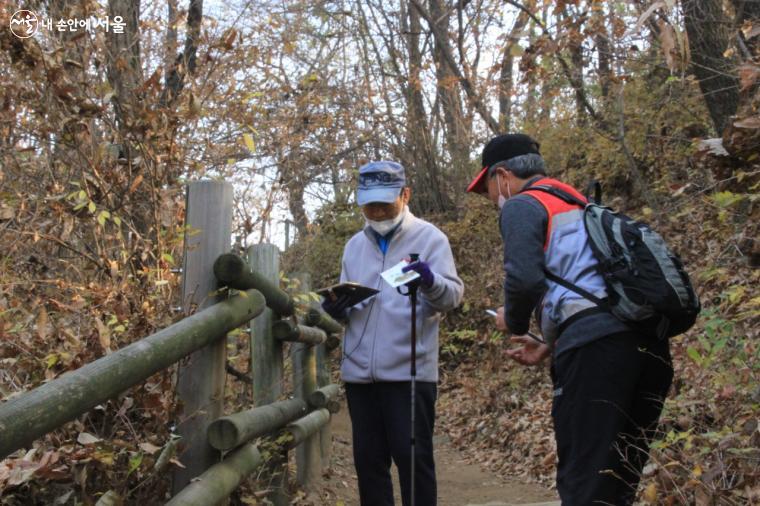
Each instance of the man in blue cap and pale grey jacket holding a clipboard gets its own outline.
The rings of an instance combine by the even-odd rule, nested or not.
[[[325,301],[333,317],[347,321],[341,374],[353,431],[354,465],[362,506],[393,505],[390,466],[399,471],[401,497],[411,490],[411,307],[410,299],[380,273],[418,253],[407,266],[420,274],[417,301],[415,395],[415,503],[436,504],[433,425],[438,381],[441,313],[457,307],[464,292],[446,236],[409,212],[411,190],[404,168],[371,162],[359,169],[357,202],[366,226],[343,251],[340,280],[380,292],[359,304]]]

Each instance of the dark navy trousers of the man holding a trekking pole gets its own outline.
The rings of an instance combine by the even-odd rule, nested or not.
[[[435,506],[433,458],[435,383],[416,383],[415,504]],[[393,506],[391,461],[401,484],[401,501],[411,504],[411,382],[346,383],[354,465],[361,506]]]

